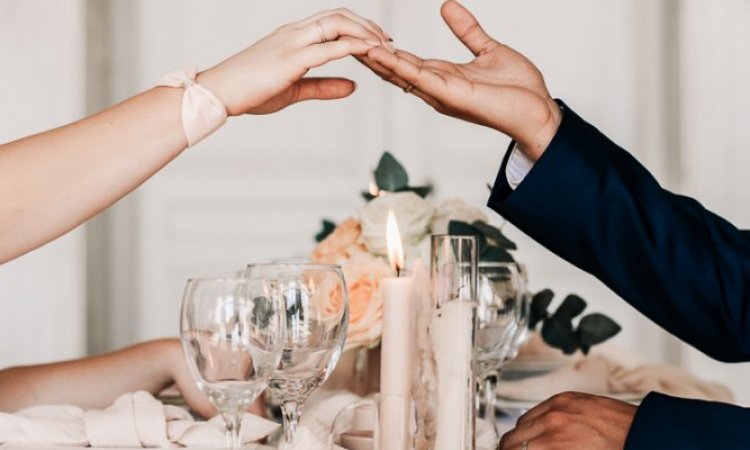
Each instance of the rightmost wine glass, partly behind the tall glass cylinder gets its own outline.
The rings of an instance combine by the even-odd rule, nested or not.
[[[477,276],[475,375],[480,415],[494,423],[495,391],[503,361],[518,334],[523,308],[521,279],[515,263],[480,263]]]

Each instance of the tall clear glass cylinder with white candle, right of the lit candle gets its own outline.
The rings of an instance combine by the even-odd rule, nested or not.
[[[430,326],[437,372],[435,450],[474,450],[476,396],[472,352],[477,328],[477,240],[432,237]]]

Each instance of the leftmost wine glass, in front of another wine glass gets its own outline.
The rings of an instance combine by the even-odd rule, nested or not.
[[[198,388],[224,419],[227,447],[242,445],[242,415],[268,386],[281,359],[283,310],[258,282],[188,280],[180,340]]]

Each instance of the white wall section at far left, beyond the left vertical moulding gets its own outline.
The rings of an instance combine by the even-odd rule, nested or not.
[[[0,142],[84,112],[83,2],[0,2]],[[0,367],[81,356],[80,231],[0,266]]]

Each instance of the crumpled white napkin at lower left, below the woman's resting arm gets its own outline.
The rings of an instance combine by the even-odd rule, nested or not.
[[[275,422],[245,414],[242,440],[257,441],[276,428]],[[196,422],[184,409],[163,405],[143,391],[123,394],[102,410],[46,405],[0,413],[0,444],[210,447],[224,445],[223,430],[221,417]]]

